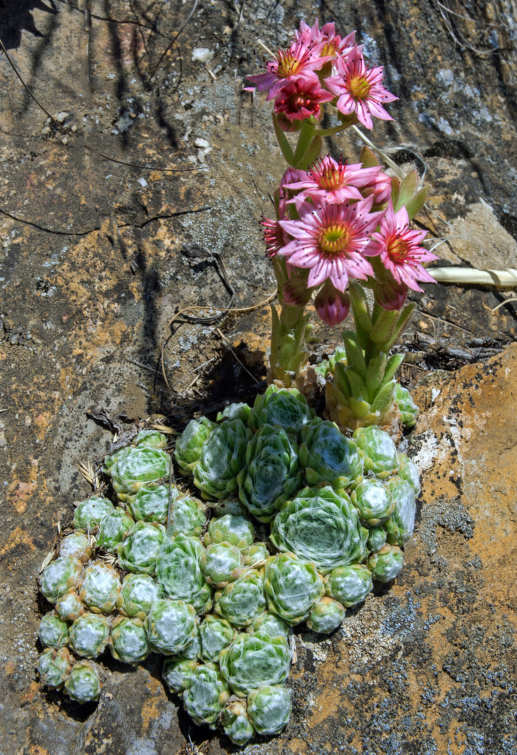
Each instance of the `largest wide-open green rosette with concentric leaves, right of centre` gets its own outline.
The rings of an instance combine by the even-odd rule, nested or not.
[[[323,575],[367,555],[368,532],[357,510],[330,486],[304,488],[275,516],[270,537],[278,550],[314,562]]]

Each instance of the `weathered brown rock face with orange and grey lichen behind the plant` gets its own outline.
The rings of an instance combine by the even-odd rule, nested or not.
[[[196,8],[152,75],[190,6],[93,2],[87,32],[85,14],[67,4],[4,5],[0,39],[48,111],[69,113],[60,120],[76,135],[64,144],[48,128],[2,55],[2,751],[171,753],[186,751],[190,736],[208,740],[202,753],[226,752],[227,740],[191,725],[152,661],[127,673],[108,658],[97,706],[38,689],[35,576],[57,522],[66,526],[73,501],[88,494],[78,462],[102,457],[110,439],[85,409],[101,404],[130,418],[164,411],[181,426],[187,409],[162,380],[162,342],[177,306],[225,307],[230,297],[216,264],[188,259],[183,242],[220,254],[235,307],[274,291],[257,221],[272,212],[283,167],[269,105],[242,85],[263,58],[257,39],[285,45],[300,17],[315,12],[322,23],[357,29],[372,62],[385,64],[400,100],[391,106],[396,122],[379,122],[373,138],[397,148],[390,154],[405,169],[414,160],[421,170],[414,153],[425,159],[434,193],[420,222],[451,236],[437,251],[456,264],[517,267],[515,22],[506,3],[450,6],[476,27],[444,11],[472,46],[490,46],[494,34],[506,44],[479,56],[454,43],[428,2],[257,2],[242,6],[240,21],[240,4],[214,2]],[[214,51],[216,80],[192,60],[198,47]],[[355,159],[361,143],[345,135],[327,147]],[[207,164],[214,167],[198,170]],[[427,286],[414,327],[451,344],[513,340],[514,305],[492,311],[503,296]],[[212,360],[202,371],[205,405],[249,391],[265,374],[267,309],[235,313],[220,327],[254,377],[209,325],[175,325],[164,352],[169,384],[185,378],[175,390]],[[340,339],[316,332],[327,344]],[[297,636],[292,722],[250,753],[517,749],[515,359],[511,347],[417,389],[424,411],[409,450],[423,495],[405,570],[331,639]]]

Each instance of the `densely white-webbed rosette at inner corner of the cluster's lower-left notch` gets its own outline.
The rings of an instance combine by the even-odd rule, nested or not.
[[[195,609],[184,600],[156,600],[146,616],[149,650],[177,655],[197,633]]]

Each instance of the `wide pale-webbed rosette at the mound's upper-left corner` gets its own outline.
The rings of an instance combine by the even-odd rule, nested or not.
[[[131,448],[112,467],[112,485],[121,501],[127,501],[149,482],[168,476],[171,460],[165,451],[149,445]]]

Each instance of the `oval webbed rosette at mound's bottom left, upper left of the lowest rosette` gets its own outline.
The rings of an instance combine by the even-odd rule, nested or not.
[[[194,670],[189,686],[183,692],[183,707],[194,723],[199,726],[208,723],[211,729],[215,729],[217,716],[230,695],[229,686],[217,666],[202,664]]]

